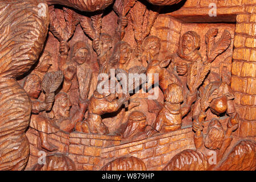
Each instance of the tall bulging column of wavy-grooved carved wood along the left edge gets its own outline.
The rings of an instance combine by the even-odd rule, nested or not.
[[[15,78],[31,68],[43,49],[49,18],[41,2],[0,1],[0,170],[24,169],[30,153],[24,133],[32,106]]]

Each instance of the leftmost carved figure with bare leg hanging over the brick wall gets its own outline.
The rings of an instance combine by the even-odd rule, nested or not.
[[[40,77],[34,74],[28,75],[24,80],[23,89],[26,90],[32,101],[30,127],[39,131],[42,148],[48,151],[55,151],[57,150],[57,147],[48,142],[48,134],[56,133],[59,129],[49,121],[45,113],[41,113],[47,109],[46,102],[38,100],[38,97],[42,92],[41,82]]]

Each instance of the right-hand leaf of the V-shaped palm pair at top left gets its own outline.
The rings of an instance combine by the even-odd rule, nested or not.
[[[70,39],[76,30],[76,26],[79,23],[79,19],[77,18],[75,11],[71,9],[67,9],[65,7],[63,7],[63,10],[64,10],[65,20],[67,22],[66,28],[68,32],[68,39]]]

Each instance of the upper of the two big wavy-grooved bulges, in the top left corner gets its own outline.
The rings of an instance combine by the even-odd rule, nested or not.
[[[0,3],[0,77],[15,78],[28,71],[38,59],[46,39],[48,13],[46,17],[38,17],[37,5],[20,2]],[[26,3],[30,6],[24,10]]]

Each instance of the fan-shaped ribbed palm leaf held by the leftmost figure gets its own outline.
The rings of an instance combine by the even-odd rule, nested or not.
[[[42,80],[42,89],[47,94],[54,93],[59,88],[62,82],[63,82],[62,71],[46,73],[46,75],[44,75]]]

